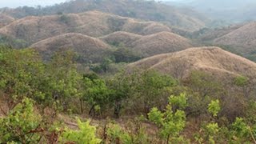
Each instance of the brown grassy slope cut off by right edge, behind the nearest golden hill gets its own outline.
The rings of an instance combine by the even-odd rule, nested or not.
[[[242,52],[246,52],[250,50],[250,48],[255,50],[256,22],[250,22],[244,26],[241,26],[228,34],[215,39],[214,42],[221,45],[234,46]]]

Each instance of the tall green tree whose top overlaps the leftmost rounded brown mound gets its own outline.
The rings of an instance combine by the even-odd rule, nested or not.
[[[78,98],[81,95],[79,89],[81,89],[82,75],[78,74],[72,51],[54,54],[50,63],[46,65],[45,78],[42,85],[42,91],[46,93],[45,99],[47,103],[54,104],[58,109],[67,110],[70,98]]]

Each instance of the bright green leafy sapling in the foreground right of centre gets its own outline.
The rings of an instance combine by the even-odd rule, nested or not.
[[[184,100],[184,95],[181,94],[177,98],[180,98],[178,102]],[[153,108],[148,114],[151,122],[154,122],[160,129],[160,135],[163,139],[166,139],[167,142],[173,138],[178,138],[180,132],[184,129],[186,124],[186,114],[182,110],[172,110],[172,105],[176,102],[174,96],[170,97],[169,104],[166,106],[165,112],[160,112],[157,108]],[[174,101],[175,99],[175,101]],[[185,98],[186,101],[186,98]],[[183,102],[182,102],[183,103]],[[186,102],[184,102],[186,105]]]

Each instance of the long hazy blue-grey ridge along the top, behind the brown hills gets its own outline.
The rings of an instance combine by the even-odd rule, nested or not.
[[[55,6],[47,7],[19,7],[17,9],[2,9],[2,13],[10,14],[14,18],[24,18],[34,15],[70,14],[98,10],[117,14],[124,17],[140,18],[144,20],[165,22],[170,26],[184,30],[199,30],[209,19],[188,8],[167,6],[161,2],[146,0],[74,0]]]

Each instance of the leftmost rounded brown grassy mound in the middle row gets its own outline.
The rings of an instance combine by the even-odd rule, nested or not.
[[[62,34],[54,38],[48,38],[33,44],[32,46],[44,58],[50,58],[52,54],[60,50],[74,50],[82,56],[86,62],[100,62],[103,55],[109,50],[109,46],[99,40],[83,34]]]

